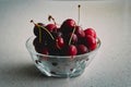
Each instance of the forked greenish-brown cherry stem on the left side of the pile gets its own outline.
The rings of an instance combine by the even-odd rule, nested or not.
[[[50,32],[49,32],[47,28],[45,28],[45,27],[43,27],[43,26],[34,23],[33,20],[31,20],[31,23],[33,23],[33,24],[34,24],[35,26],[37,26],[38,29],[39,29],[39,42],[41,42],[41,29],[45,29],[45,30],[50,35],[50,37],[52,38],[52,40],[55,40],[53,36],[50,34]]]

